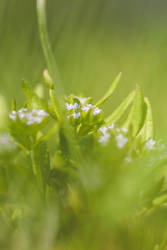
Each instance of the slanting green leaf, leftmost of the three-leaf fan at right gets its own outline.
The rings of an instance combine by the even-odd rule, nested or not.
[[[119,105],[119,107],[105,119],[105,123],[109,125],[111,123],[118,121],[124,114],[126,109],[129,107],[129,105],[132,103],[134,96],[135,96],[135,91],[131,92],[126,97],[126,99]]]

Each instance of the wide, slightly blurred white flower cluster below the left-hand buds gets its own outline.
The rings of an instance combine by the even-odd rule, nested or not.
[[[18,111],[13,110],[9,114],[9,118],[12,121],[16,121],[19,118],[25,121],[26,125],[40,124],[48,116],[49,114],[43,109],[32,109],[29,111],[27,108],[22,108]]]

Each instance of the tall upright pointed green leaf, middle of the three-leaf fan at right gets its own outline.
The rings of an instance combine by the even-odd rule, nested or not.
[[[145,116],[146,105],[144,102],[144,97],[140,87],[137,85],[134,102],[123,127],[131,127],[133,136],[136,136],[139,133],[140,129],[143,127]]]

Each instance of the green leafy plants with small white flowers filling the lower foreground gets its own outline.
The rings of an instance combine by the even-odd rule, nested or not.
[[[45,70],[22,107],[1,97],[3,249],[166,249],[166,148],[139,86],[105,117],[119,80],[60,100]]]

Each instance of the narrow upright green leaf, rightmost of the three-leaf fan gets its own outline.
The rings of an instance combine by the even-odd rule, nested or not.
[[[154,138],[154,121],[151,104],[147,97],[144,98],[144,102],[147,106],[146,119],[143,128],[137,136],[143,143],[151,138]]]

